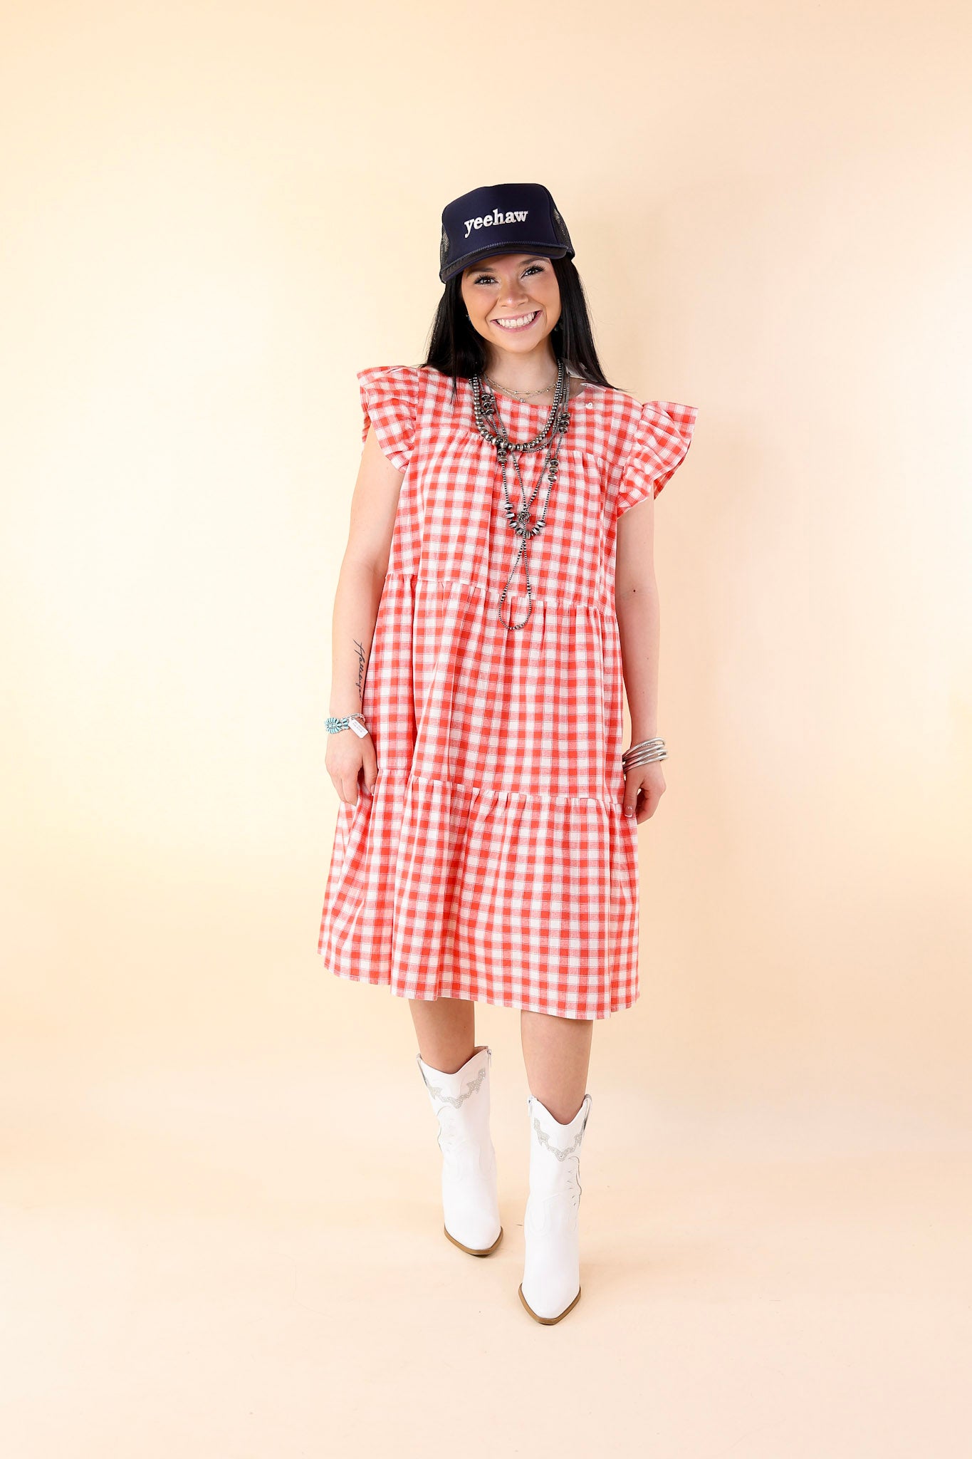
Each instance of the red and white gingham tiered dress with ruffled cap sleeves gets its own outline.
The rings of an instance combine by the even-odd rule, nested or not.
[[[608,1018],[638,996],[616,519],[682,463],[697,410],[584,387],[528,543],[533,611],[512,632],[498,597],[519,538],[469,381],[453,406],[439,371],[357,378],[361,441],[373,425],[405,476],[361,702],[377,781],[338,805],[318,951],[338,978],[401,998]],[[497,398],[514,441],[549,410]],[[522,457],[528,499],[542,460]],[[533,521],[545,495],[546,481]],[[503,617],[526,608],[520,562]]]

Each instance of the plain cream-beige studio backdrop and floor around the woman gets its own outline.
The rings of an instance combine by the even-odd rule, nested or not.
[[[7,13],[10,1459],[968,1453],[969,31]],[[608,378],[699,411],[643,992],[595,1032],[552,1329],[519,1018],[479,1013],[507,1237],[468,1262],[408,1008],[316,956],[354,375],[423,357],[442,207],[512,179]]]

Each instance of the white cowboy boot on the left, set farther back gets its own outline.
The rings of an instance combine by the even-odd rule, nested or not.
[[[503,1236],[490,1137],[493,1050],[477,1049],[455,1074],[433,1069],[420,1053],[415,1059],[439,1116],[443,1230],[471,1256],[488,1256]]]

